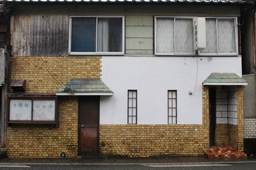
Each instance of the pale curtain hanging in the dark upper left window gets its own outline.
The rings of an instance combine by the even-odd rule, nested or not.
[[[107,19],[98,19],[97,52],[109,52],[109,23]]]

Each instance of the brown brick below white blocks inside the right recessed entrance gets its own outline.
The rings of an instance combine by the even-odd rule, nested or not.
[[[216,145],[228,145],[228,124],[216,124]]]

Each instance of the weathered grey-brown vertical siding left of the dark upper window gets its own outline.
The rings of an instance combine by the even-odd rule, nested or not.
[[[67,56],[67,15],[18,15],[12,17],[14,56]]]

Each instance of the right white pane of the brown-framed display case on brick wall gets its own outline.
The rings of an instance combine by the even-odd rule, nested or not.
[[[33,101],[33,120],[55,120],[55,101]]]

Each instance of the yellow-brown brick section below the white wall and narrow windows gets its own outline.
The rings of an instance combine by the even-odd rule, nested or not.
[[[203,155],[207,150],[207,125],[100,125],[102,155]]]

